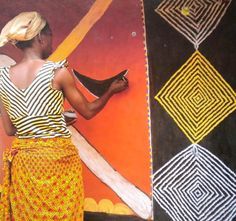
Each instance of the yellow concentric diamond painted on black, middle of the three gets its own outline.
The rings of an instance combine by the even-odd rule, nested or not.
[[[196,51],[155,96],[192,143],[236,109],[236,94]]]

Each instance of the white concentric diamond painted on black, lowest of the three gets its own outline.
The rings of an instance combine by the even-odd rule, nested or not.
[[[236,174],[192,144],[154,173],[153,197],[174,221],[231,221]]]

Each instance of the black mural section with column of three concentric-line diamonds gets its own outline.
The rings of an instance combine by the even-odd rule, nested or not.
[[[222,65],[218,54],[233,62],[235,45],[232,39],[223,39],[220,30],[231,27],[235,36],[231,25],[235,3],[145,3],[152,131],[156,132],[152,140],[154,219],[231,221],[236,217],[236,146],[235,130],[226,128],[235,128],[236,94],[235,80],[227,76],[233,75],[235,65]],[[227,21],[218,27],[224,16]],[[233,49],[218,51],[217,38],[218,44]]]

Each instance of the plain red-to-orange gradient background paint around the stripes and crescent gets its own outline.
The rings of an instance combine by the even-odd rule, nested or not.
[[[93,3],[70,1],[71,6],[67,3],[60,8],[59,2],[64,1],[57,1],[55,7],[58,10],[55,10],[51,1],[40,4],[35,1],[32,4],[23,0],[19,2],[21,11],[36,9],[48,18],[54,31],[55,45],[66,37]],[[18,12],[17,7],[11,10],[15,10],[15,14]],[[68,60],[71,68],[96,79],[108,78],[129,69],[129,89],[115,95],[94,119],[86,121],[79,117],[76,127],[119,173],[149,194],[150,144],[142,25],[140,1],[114,0]],[[9,47],[0,52],[8,52],[16,60],[20,56],[12,49],[9,53]],[[78,86],[89,99],[93,99],[81,85]],[[4,145],[8,141],[2,135],[1,128],[0,133],[1,138],[3,137],[1,144]],[[86,167],[84,183],[87,197],[97,201],[107,198],[114,203],[120,202],[116,194]]]

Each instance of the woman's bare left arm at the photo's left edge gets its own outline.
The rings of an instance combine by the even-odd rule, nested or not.
[[[12,124],[11,119],[1,100],[0,100],[0,112],[1,112],[3,127],[5,129],[6,134],[8,136],[14,136],[16,134],[16,128]]]

